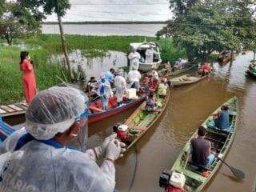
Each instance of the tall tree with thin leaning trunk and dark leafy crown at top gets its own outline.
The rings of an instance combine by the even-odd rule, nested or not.
[[[58,17],[58,26],[60,30],[60,36],[62,40],[62,50],[65,56],[66,65],[68,67],[68,70],[70,72],[70,77],[73,79],[73,73],[70,67],[70,59],[69,54],[66,47],[66,38],[63,31],[62,26],[62,17],[66,14],[66,10],[70,9],[70,2],[69,0],[18,0],[20,5],[22,7],[26,7],[27,9],[30,9],[32,12],[40,14],[57,14]],[[43,9],[43,12],[40,11],[40,9]]]

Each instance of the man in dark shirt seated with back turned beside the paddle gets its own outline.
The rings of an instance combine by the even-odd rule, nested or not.
[[[195,165],[207,167],[210,166],[215,159],[211,150],[211,142],[206,140],[206,128],[199,126],[198,137],[191,140],[191,159]]]

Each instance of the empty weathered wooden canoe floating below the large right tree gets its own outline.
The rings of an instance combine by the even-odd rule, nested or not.
[[[184,86],[191,83],[199,82],[208,76],[198,77],[198,76],[190,76],[188,74],[182,75],[178,78],[173,78],[170,80],[172,86]]]

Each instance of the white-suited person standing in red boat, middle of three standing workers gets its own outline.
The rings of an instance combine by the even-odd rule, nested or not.
[[[122,77],[122,71],[118,70],[114,78],[114,86],[117,89],[118,106],[122,106],[122,98],[126,92],[126,79]]]

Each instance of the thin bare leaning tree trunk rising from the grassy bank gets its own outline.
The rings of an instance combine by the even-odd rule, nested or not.
[[[70,73],[71,79],[74,80],[74,75],[73,75],[71,67],[70,67],[70,59],[69,59],[69,55],[67,53],[67,48],[66,48],[66,39],[65,39],[65,36],[64,36],[64,32],[63,32],[62,17],[59,16],[59,15],[58,15],[58,26],[59,26],[59,31],[60,31],[60,34],[61,34],[62,50],[63,50],[64,56],[65,56],[67,69]]]

